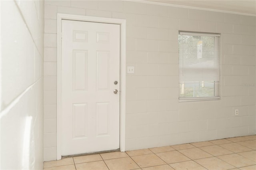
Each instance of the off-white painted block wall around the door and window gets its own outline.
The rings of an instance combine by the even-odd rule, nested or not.
[[[44,160],[56,160],[57,13],[126,19],[126,63],[135,67],[126,77],[126,150],[256,134],[255,17],[139,2],[46,0]],[[221,33],[221,100],[179,103],[179,30]]]

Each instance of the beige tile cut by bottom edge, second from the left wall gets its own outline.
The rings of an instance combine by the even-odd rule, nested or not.
[[[108,170],[103,160],[76,164],[76,170]]]

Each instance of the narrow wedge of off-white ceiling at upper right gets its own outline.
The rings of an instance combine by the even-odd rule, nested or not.
[[[204,8],[208,10],[256,16],[256,0],[144,0],[169,6]]]

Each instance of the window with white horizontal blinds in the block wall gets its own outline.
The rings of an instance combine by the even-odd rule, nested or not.
[[[179,32],[179,100],[220,99],[220,34]]]

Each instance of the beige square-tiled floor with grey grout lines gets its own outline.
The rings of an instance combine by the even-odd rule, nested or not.
[[[44,170],[256,170],[256,135],[44,162]]]

